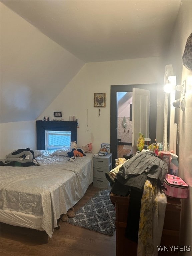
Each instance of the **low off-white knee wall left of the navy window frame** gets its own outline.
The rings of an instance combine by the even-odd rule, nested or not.
[[[3,123],[0,127],[1,159],[16,149],[37,148],[35,121]]]

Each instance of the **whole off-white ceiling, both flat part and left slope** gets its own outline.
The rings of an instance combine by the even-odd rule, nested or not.
[[[1,1],[1,123],[35,120],[86,62],[164,56],[181,1]]]

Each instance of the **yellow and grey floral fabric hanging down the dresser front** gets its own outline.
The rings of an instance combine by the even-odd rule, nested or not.
[[[137,256],[153,256],[153,220],[158,217],[157,182],[146,180],[141,199]]]

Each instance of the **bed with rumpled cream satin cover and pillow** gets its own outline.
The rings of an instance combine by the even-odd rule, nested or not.
[[[51,238],[57,220],[93,182],[93,155],[70,162],[51,151],[35,153],[39,166],[1,166],[0,221],[46,231]]]

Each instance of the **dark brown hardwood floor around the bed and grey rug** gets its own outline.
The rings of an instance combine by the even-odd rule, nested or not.
[[[89,186],[74,206],[77,211],[101,189]],[[88,229],[59,222],[49,239],[46,232],[1,223],[1,256],[115,256],[115,234],[110,237]]]

